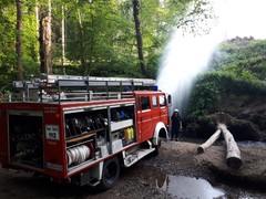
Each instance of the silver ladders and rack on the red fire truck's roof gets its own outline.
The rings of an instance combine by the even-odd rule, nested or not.
[[[27,82],[16,81],[13,85],[16,88],[23,90],[23,101],[31,101],[32,93],[34,93],[31,91],[39,91],[40,102],[43,100],[61,102],[92,101],[96,97],[98,100],[110,100],[113,96],[126,97],[125,95],[129,97],[129,93],[124,93],[125,91],[151,91],[155,88],[155,81],[152,78],[41,74],[31,76]]]

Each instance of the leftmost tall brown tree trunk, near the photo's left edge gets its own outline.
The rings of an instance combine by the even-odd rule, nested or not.
[[[23,65],[22,65],[22,2],[16,0],[17,6],[17,35],[16,35],[16,52],[17,52],[17,78],[23,81]]]

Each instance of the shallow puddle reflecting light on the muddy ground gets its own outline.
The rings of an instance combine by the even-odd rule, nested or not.
[[[208,181],[201,178],[167,175],[162,185],[156,181],[156,187],[173,198],[226,198],[223,190],[213,188]]]

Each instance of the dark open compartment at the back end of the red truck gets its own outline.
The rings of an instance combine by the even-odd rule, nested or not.
[[[41,114],[10,114],[9,136],[11,164],[43,169],[43,128]]]

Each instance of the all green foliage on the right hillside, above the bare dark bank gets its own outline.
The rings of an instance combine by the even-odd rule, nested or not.
[[[265,54],[266,40],[235,38],[221,43],[209,62],[211,71],[198,76],[188,114],[198,116],[224,111],[234,96],[238,104],[245,105],[255,96],[266,95]],[[259,123],[264,126],[264,122]]]

